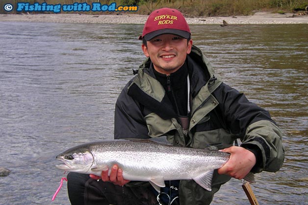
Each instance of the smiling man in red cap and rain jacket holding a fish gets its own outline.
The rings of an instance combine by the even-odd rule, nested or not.
[[[161,190],[165,194],[158,196],[161,204],[210,204],[231,177],[242,179],[250,171],[275,172],[284,159],[282,134],[269,113],[224,84],[202,51],[193,46],[190,35],[180,11],[152,12],[140,36],[148,58],[119,95],[115,108],[116,139],[167,136],[175,146],[214,145],[231,153],[228,162],[214,172],[212,191],[191,180],[166,182]],[[232,146],[236,138],[242,141],[240,147]],[[123,179],[116,164],[110,176],[103,171],[101,177],[90,177],[68,176],[72,204],[157,204],[158,193],[148,182]],[[75,200],[78,190],[84,194]]]

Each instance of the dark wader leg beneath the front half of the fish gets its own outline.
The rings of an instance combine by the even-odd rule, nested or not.
[[[150,183],[119,186],[74,172],[70,172],[67,179],[72,205],[158,205]]]

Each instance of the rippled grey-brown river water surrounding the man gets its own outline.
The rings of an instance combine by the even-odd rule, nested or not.
[[[142,25],[0,22],[0,205],[67,205],[61,151],[113,137],[114,104],[144,60]],[[191,25],[194,44],[232,87],[270,111],[285,162],[257,174],[261,205],[308,202],[308,24]],[[66,182],[64,182],[66,185]],[[213,205],[249,204],[239,180]]]

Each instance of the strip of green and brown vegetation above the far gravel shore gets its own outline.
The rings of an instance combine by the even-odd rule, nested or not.
[[[75,2],[86,2],[92,4],[99,2],[109,5],[116,2],[117,5],[137,5],[138,10],[135,14],[148,15],[153,10],[161,7],[170,7],[179,9],[187,17],[199,16],[235,16],[235,15],[252,15],[257,11],[269,11],[274,13],[291,12],[297,13],[304,11],[307,13],[308,0],[1,0],[0,13],[15,14],[16,10],[7,12],[4,10],[4,5],[10,3],[13,7],[18,2],[48,3],[48,4],[73,4]],[[306,9],[306,12],[305,12]],[[31,12],[31,14],[40,12]],[[44,12],[48,13],[48,12]],[[61,12],[63,13],[63,11]],[[67,12],[77,13],[77,12]],[[93,14],[91,11],[83,12],[85,14]],[[114,12],[95,12],[95,14],[111,14]],[[122,12],[125,13],[125,12]]]

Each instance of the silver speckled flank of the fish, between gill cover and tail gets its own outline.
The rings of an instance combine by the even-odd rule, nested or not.
[[[163,177],[167,180],[192,179],[205,171],[220,168],[229,154],[208,149],[169,146],[141,140],[113,140],[92,144],[90,152],[100,167],[118,164],[129,180]]]

